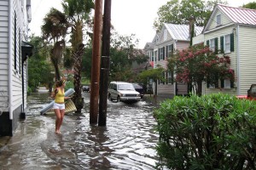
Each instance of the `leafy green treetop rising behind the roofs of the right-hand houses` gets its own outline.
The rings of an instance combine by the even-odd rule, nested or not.
[[[154,28],[160,31],[163,23],[188,25],[191,17],[195,19],[195,26],[205,26],[217,3],[226,4],[226,1],[170,0],[159,8]]]

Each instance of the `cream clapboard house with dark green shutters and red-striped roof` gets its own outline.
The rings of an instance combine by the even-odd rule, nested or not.
[[[213,51],[230,56],[235,72],[235,82],[219,80],[218,87],[205,84],[203,94],[247,94],[256,83],[256,10],[216,5],[202,34],[203,42]]]

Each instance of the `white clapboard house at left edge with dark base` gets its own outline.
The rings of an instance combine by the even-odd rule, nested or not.
[[[0,136],[13,136],[25,117],[31,19],[31,0],[0,1]]]

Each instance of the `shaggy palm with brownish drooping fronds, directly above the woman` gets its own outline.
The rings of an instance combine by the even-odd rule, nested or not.
[[[61,62],[63,48],[65,48],[65,36],[67,35],[68,22],[66,15],[55,8],[51,8],[44,17],[44,25],[41,27],[43,38],[47,43],[53,43],[50,50],[50,60],[55,67],[55,79],[60,80],[59,64]]]

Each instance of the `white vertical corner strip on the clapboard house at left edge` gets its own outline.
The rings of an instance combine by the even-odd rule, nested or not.
[[[13,101],[13,93],[12,93],[12,59],[13,59],[13,53],[12,53],[12,22],[13,22],[13,14],[12,14],[12,8],[13,8],[13,1],[9,1],[9,119],[13,119],[13,107],[12,107],[12,101]]]

